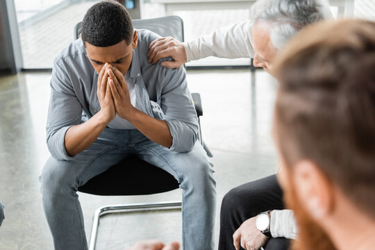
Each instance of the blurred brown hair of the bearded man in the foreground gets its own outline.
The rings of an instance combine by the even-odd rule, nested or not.
[[[375,22],[310,26],[275,67],[276,140],[285,163],[313,161],[375,218]]]

